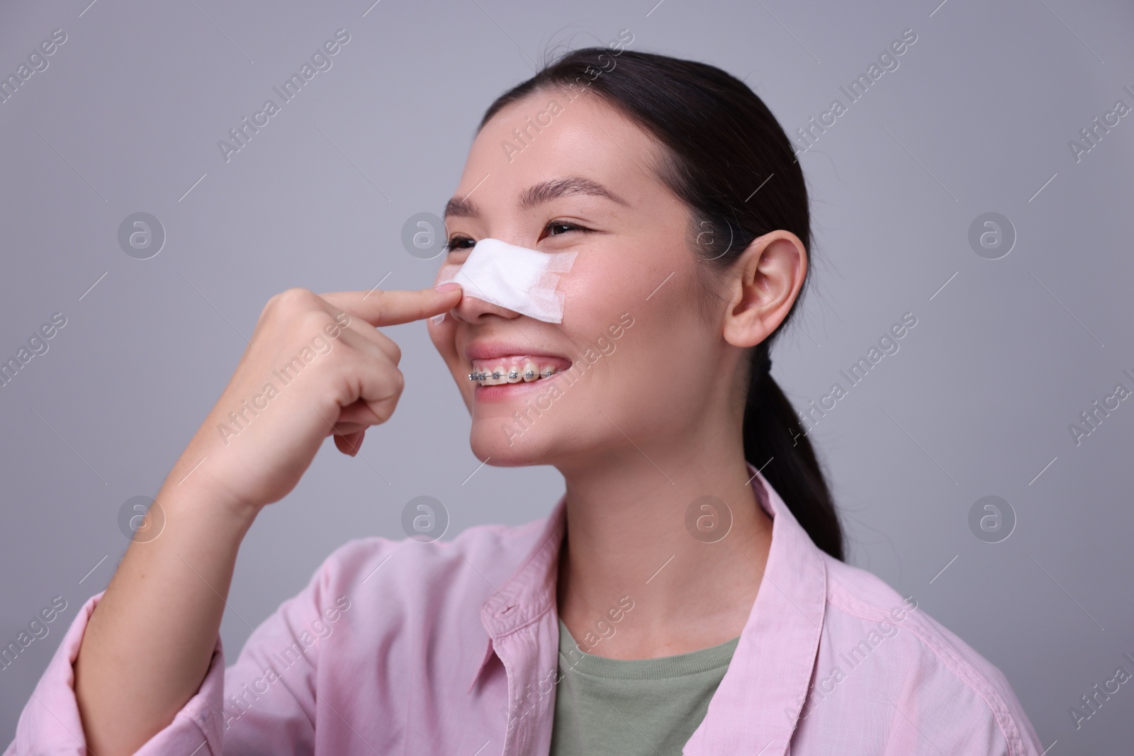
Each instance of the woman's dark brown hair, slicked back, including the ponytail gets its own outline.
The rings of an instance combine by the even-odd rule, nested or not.
[[[792,231],[810,249],[807,190],[792,144],[763,101],[735,76],[657,53],[584,48],[545,62],[497,97],[479,128],[533,92],[568,87],[602,97],[666,148],[659,179],[688,206],[691,246],[705,265],[728,269],[753,239],[776,229]],[[744,456],[762,468],[815,545],[843,559],[843,529],[827,479],[769,373],[772,342],[802,297],[803,290],[779,328],[752,349]]]

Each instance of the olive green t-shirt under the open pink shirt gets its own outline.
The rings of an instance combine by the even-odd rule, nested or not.
[[[739,637],[659,659],[584,654],[559,620],[551,756],[680,756]]]

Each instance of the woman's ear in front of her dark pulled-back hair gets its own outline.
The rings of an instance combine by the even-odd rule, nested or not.
[[[782,229],[756,239],[734,261],[725,340],[754,347],[787,317],[807,274],[807,250],[799,237]]]

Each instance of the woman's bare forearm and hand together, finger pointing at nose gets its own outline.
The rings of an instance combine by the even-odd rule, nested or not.
[[[329,433],[354,455],[365,430],[389,419],[401,350],[375,326],[459,300],[456,284],[271,298],[220,401],[158,492],[160,537],[130,543],[87,623],[74,669],[91,753],[133,754],[174,720],[209,669],[256,513],[295,487]]]

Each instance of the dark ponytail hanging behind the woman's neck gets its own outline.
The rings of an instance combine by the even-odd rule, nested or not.
[[[768,341],[755,347],[744,408],[744,458],[776,489],[816,546],[843,560],[843,528],[835,501],[807,440],[771,375]],[[767,465],[767,467],[765,467]]]

